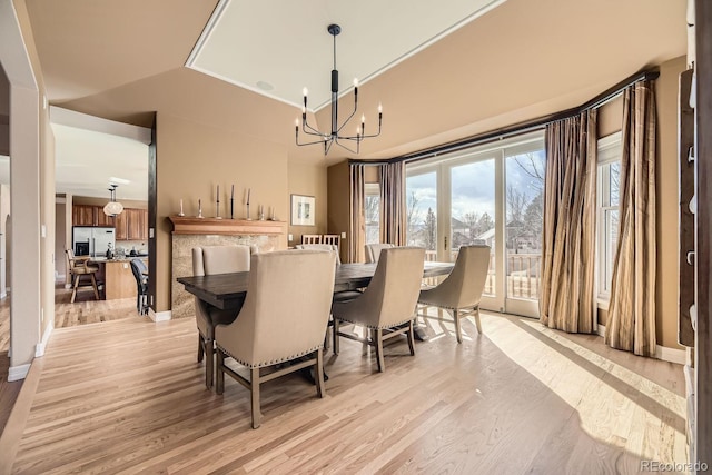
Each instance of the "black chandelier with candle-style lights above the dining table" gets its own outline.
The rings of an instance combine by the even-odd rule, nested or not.
[[[299,119],[295,120],[296,129],[296,142],[298,146],[324,144],[324,155],[329,152],[329,149],[334,144],[350,151],[352,154],[358,154],[360,142],[363,139],[378,137],[380,135],[380,122],[383,119],[383,108],[378,105],[378,132],[366,135],[366,117],[360,116],[360,125],[356,128],[356,135],[349,136],[342,130],[348,121],[356,115],[358,109],[358,81],[354,79],[354,110],[346,118],[346,120],[338,125],[338,70],[336,69],[336,36],[342,32],[342,27],[338,24],[329,24],[327,28],[329,34],[334,37],[334,69],[332,70],[332,131],[320,132],[307,122],[307,88],[304,88],[304,106],[301,107],[301,132],[308,136],[316,136],[318,139],[299,144]],[[347,144],[355,142],[356,147],[352,148]]]

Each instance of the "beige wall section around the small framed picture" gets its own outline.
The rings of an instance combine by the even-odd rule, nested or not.
[[[318,151],[318,150],[317,150]],[[288,231],[293,236],[289,246],[301,243],[301,235],[323,235],[327,232],[340,232],[346,229],[332,229],[327,226],[326,210],[328,202],[326,199],[326,166],[325,164],[301,165],[289,161],[288,164],[289,195],[314,196],[316,205],[316,226],[288,226]],[[279,215],[279,219],[289,222],[289,211]]]

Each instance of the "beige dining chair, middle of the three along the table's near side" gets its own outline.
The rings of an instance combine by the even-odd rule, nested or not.
[[[394,247],[383,249],[376,271],[360,296],[332,305],[334,316],[334,354],[339,352],[339,337],[356,339],[376,349],[378,370],[385,370],[383,343],[407,334],[411,355],[415,355],[413,320],[423,279],[425,249]],[[360,338],[339,331],[339,324],[362,325],[370,336]]]

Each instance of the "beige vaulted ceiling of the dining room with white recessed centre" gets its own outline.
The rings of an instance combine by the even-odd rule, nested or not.
[[[312,79],[298,72],[328,79],[332,38],[325,29],[336,22],[344,27],[339,68],[379,57],[380,73],[355,72],[372,76],[359,88],[363,109],[384,106],[383,135],[364,144],[360,158],[388,158],[578,106],[686,48],[684,0],[507,0],[446,28],[491,3],[469,2],[471,11],[441,16],[446,20],[433,16],[441,23],[432,31],[449,34],[411,56],[398,50],[398,58],[380,55],[380,46],[415,37],[429,24],[427,8],[447,9],[447,2],[411,8],[409,1],[309,0],[288,10],[276,0],[233,3],[243,27],[226,33],[222,52],[229,56],[234,41],[236,58],[253,58],[236,60],[249,68],[244,73],[250,79],[243,80],[249,89],[185,67],[216,0],[27,0],[50,103],[145,127],[159,110],[281,144],[291,160],[324,160],[318,149],[294,146],[299,109],[254,83],[275,78],[273,86],[296,89],[295,102],[301,86],[324,88],[303,83]],[[277,51],[294,51],[294,61],[286,63]],[[316,112],[322,128],[328,113]],[[346,156],[334,150],[324,162]]]

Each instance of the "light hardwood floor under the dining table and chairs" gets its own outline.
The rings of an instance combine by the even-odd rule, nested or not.
[[[435,338],[415,357],[389,345],[384,374],[343,340],[327,356],[326,398],[298,375],[274,380],[257,431],[245,388],[205,388],[192,319],[56,329],[0,451],[8,471],[32,474],[603,474],[685,462],[680,366],[531,319],[483,313],[482,324],[477,336],[464,320],[457,345],[449,323],[428,318]]]

